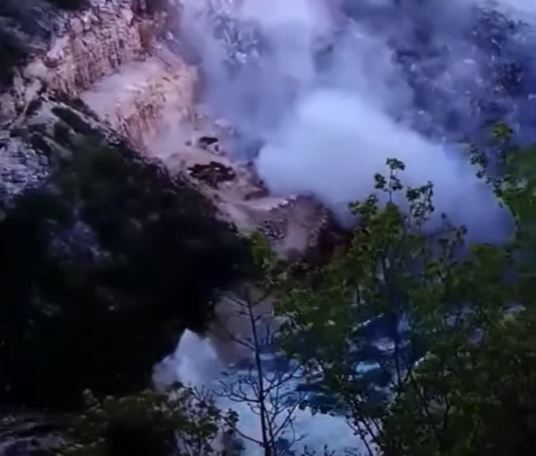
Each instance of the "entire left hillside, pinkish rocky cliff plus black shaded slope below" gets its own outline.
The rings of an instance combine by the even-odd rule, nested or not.
[[[191,289],[175,293],[174,275],[197,267],[184,249],[212,259],[208,269],[197,261],[208,274],[202,290],[238,275],[231,263],[241,261],[241,247],[228,223],[261,230],[291,260],[329,242],[327,211],[309,198],[267,195],[251,164],[233,161],[232,129],[197,108],[199,74],[180,52],[180,11],[173,0],[0,4],[2,398],[67,398],[81,380],[104,392],[137,388],[184,325],[203,324],[208,295],[189,279]],[[120,170],[117,182],[111,169]],[[125,337],[114,350],[99,348],[116,323]],[[131,335],[145,341],[133,357]],[[85,343],[106,356],[93,358]],[[116,373],[103,380],[108,367]],[[47,419],[1,416],[0,454],[59,441],[56,426],[42,426]]]

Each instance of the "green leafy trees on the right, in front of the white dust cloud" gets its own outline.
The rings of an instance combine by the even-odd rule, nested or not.
[[[515,272],[519,245],[468,252],[464,229],[446,219],[425,235],[432,185],[406,188],[404,165],[387,165],[376,194],[352,205],[350,246],[281,297],[287,351],[368,439],[369,454],[527,454],[536,317],[524,292],[532,276],[524,283]],[[369,344],[378,322],[390,339],[381,353]],[[363,373],[363,362],[377,368]]]

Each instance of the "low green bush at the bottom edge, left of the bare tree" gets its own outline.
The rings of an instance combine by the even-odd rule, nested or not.
[[[71,430],[62,456],[209,456],[218,433],[233,434],[236,417],[222,413],[209,396],[182,386],[172,393],[143,391],[97,400],[86,393],[86,410]]]

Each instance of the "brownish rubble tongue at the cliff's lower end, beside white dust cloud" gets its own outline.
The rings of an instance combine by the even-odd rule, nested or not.
[[[233,162],[225,143],[206,144],[204,138],[163,149],[168,169],[185,176],[241,232],[264,233],[281,258],[299,260],[314,250],[324,231],[332,228],[327,209],[309,197],[268,195],[251,164]]]

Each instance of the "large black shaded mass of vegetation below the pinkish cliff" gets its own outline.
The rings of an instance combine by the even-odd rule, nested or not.
[[[59,125],[72,156],[0,211],[0,397],[47,406],[145,387],[248,256],[198,193]]]

